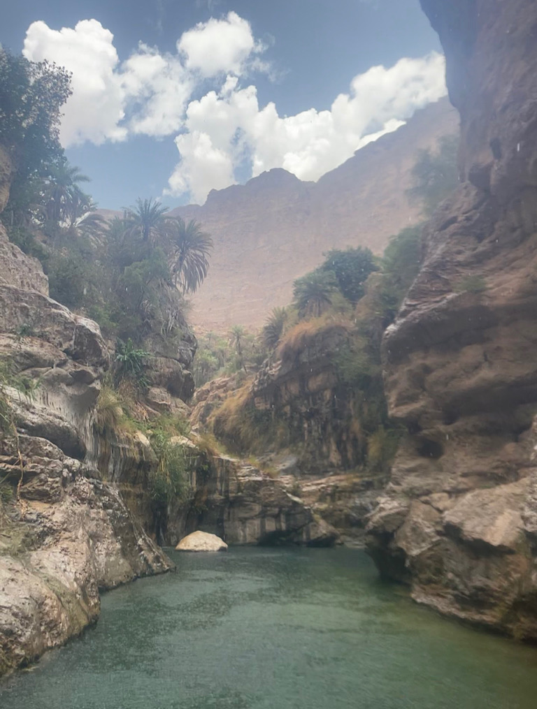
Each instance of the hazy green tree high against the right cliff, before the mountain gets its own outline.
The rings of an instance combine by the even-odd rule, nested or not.
[[[421,202],[426,216],[431,216],[438,204],[458,185],[458,141],[457,135],[445,135],[438,141],[436,152],[418,152],[411,170],[414,184],[407,194],[411,201]]]

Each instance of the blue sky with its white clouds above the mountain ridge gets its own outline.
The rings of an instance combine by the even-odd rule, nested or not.
[[[0,43],[72,72],[60,139],[102,208],[316,180],[446,94],[418,0],[18,0]]]

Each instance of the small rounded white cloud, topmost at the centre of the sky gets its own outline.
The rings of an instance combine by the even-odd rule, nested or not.
[[[198,71],[202,77],[214,77],[243,73],[247,60],[262,52],[263,45],[255,41],[247,20],[229,12],[225,18],[211,17],[183,33],[177,49],[184,55],[187,69]]]

